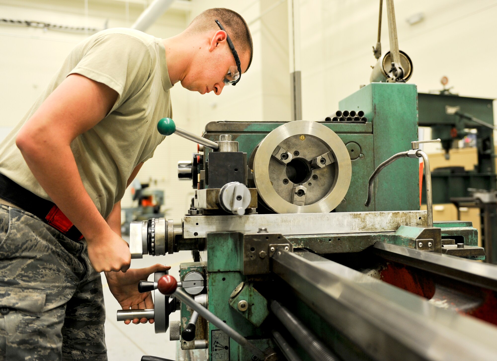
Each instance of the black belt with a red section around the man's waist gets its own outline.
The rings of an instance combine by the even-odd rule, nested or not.
[[[0,198],[14,206],[27,211],[73,241],[83,238],[81,232],[54,203],[47,201],[27,189],[21,187],[10,178],[0,173]]]

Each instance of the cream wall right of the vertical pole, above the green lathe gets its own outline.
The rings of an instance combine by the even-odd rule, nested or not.
[[[383,6],[382,50],[389,50]],[[303,118],[322,119],[367,84],[376,59],[379,1],[301,0]],[[460,95],[497,97],[496,0],[395,0],[399,47],[412,59],[419,92],[442,88],[447,76]],[[424,20],[409,25],[418,12]],[[485,70],[483,70],[485,69]],[[497,109],[494,103],[495,116]]]

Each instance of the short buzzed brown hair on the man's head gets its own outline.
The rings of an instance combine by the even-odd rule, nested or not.
[[[216,19],[226,29],[239,55],[242,55],[246,51],[250,52],[248,70],[253,56],[252,36],[250,35],[250,30],[248,30],[247,22],[238,12],[224,7],[207,9],[193,19],[187,30],[198,33],[209,30],[221,30],[215,22]]]

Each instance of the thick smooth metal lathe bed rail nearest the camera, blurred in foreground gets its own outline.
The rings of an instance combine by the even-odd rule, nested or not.
[[[323,257],[278,250],[272,256],[272,271],[373,359],[496,358],[497,330],[492,325],[438,308],[418,295]]]

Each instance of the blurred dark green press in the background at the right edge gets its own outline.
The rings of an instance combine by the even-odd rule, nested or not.
[[[473,170],[443,167],[431,173],[433,203],[454,203],[481,210],[480,238],[487,262],[497,262],[497,174],[494,149],[494,99],[474,98],[442,90],[440,94],[418,94],[419,126],[430,127],[432,138],[440,138],[448,158],[450,149],[470,135],[476,138],[478,164]],[[470,133],[469,130],[476,130]],[[422,193],[422,202],[426,195]],[[459,213],[459,212],[458,212]],[[490,240],[490,241],[488,241]]]

